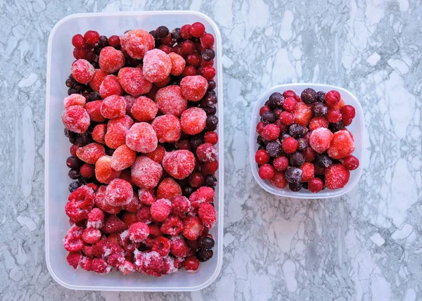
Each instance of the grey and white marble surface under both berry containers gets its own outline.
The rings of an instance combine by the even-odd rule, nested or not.
[[[185,3],[186,2],[186,3]],[[193,293],[73,291],[44,259],[46,44],[70,13],[191,9],[224,46],[224,264]],[[422,300],[420,0],[0,1],[1,300]],[[364,107],[364,173],[330,200],[250,174],[252,105],[276,84],[345,87]]]

